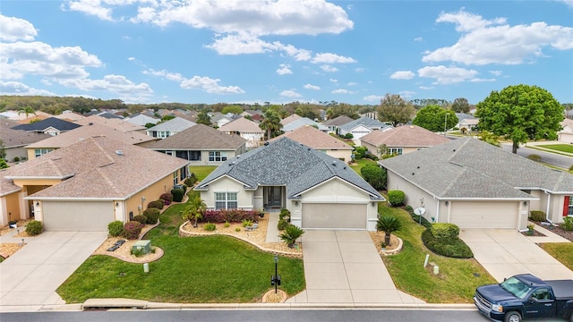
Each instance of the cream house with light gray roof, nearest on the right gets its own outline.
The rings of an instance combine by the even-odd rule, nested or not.
[[[573,216],[573,175],[474,138],[379,161],[389,190],[429,221],[460,228],[523,230],[531,210],[560,224]]]

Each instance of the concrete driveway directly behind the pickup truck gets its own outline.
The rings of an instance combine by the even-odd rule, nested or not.
[[[517,231],[465,229],[459,237],[475,259],[499,282],[530,273],[542,279],[573,279],[573,272]]]

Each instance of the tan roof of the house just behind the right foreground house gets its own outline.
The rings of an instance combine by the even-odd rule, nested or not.
[[[402,125],[386,131],[372,131],[364,135],[360,140],[375,147],[386,145],[390,148],[426,148],[449,142],[447,138],[417,125]]]

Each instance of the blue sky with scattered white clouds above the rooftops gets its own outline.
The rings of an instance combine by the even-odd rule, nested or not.
[[[379,104],[537,85],[573,102],[573,0],[4,0],[0,94]]]

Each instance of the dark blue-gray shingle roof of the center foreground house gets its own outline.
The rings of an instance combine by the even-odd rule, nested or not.
[[[304,191],[338,178],[368,193],[372,200],[383,200],[378,191],[344,162],[288,138],[227,160],[195,189],[207,189],[210,182],[222,176],[243,182],[245,189],[252,190],[259,185],[286,185],[288,199],[298,199]]]

